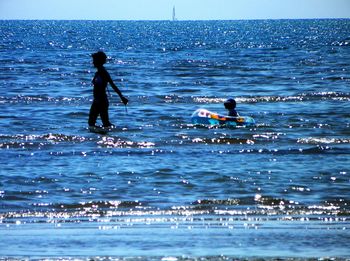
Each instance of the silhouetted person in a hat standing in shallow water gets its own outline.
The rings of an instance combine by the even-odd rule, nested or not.
[[[112,127],[113,125],[110,123],[108,116],[109,102],[106,93],[107,84],[109,83],[112,86],[113,90],[118,93],[124,105],[128,103],[128,99],[123,96],[103,66],[107,61],[106,54],[102,51],[94,53],[92,54],[92,60],[94,66],[97,68],[97,72],[95,73],[95,76],[92,80],[92,83],[94,85],[94,100],[92,102],[89,114],[89,126],[95,126],[97,117],[100,115],[103,127]]]

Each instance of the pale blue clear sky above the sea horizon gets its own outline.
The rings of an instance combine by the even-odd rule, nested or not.
[[[0,19],[178,20],[350,18],[350,0],[0,0]]]

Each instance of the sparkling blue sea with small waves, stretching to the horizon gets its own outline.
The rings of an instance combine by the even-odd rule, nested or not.
[[[350,259],[350,20],[0,21],[0,259]],[[91,133],[91,54],[110,90]],[[237,101],[255,127],[193,125]]]

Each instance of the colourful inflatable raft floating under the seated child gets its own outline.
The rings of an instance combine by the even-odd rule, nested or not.
[[[228,127],[254,127],[255,120],[249,116],[224,116],[206,109],[196,110],[191,117],[193,124],[225,125]]]

